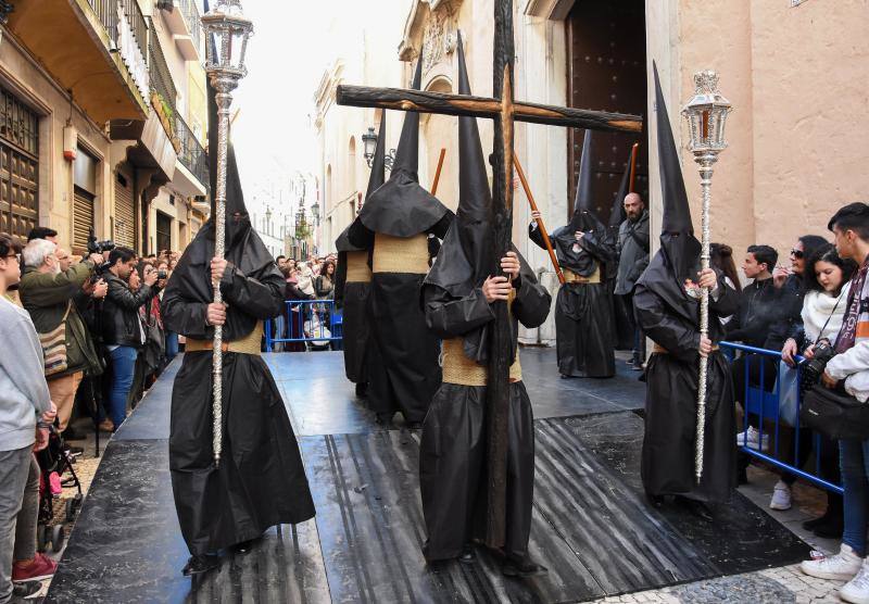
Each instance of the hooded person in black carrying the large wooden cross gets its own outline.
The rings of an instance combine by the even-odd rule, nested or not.
[[[458,41],[458,91],[470,93],[462,41]],[[469,544],[483,539],[487,523],[486,385],[491,304],[508,301],[513,331],[506,483],[506,555],[503,570],[530,576],[545,569],[528,557],[534,481],[531,403],[521,381],[518,323],[541,325],[550,295],[515,251],[501,260],[507,277],[490,276],[493,248],[491,192],[474,117],[458,118],[458,212],[438,261],[423,286],[428,326],[443,338],[443,383],[423,426],[419,483],[429,562],[474,559]]]

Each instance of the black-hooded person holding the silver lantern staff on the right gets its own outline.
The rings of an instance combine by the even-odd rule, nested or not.
[[[720,316],[735,312],[736,292],[711,269],[702,274],[702,247],[694,238],[679,155],[655,70],[658,158],[664,198],[660,249],[637,284],[637,320],[655,342],[646,369],[645,436],[641,474],[656,504],[677,495],[708,518],[704,502],[723,502],[735,487],[736,446],[733,386]],[[695,284],[695,280],[697,281]],[[709,287],[709,337],[700,334],[700,288]],[[697,370],[708,357],[703,479],[695,485]]]

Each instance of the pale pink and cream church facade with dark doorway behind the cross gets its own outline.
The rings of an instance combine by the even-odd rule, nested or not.
[[[378,52],[357,45],[326,72],[317,92],[318,106],[326,108],[318,112],[317,126],[324,140],[325,199],[333,217],[323,227],[326,244],[351,218],[352,212],[339,210],[348,203],[344,198],[352,202],[352,193],[364,191],[367,179],[364,163],[350,172],[355,185],[343,181],[347,173],[336,178],[333,162],[337,158],[340,165],[342,141],[360,131],[360,121],[376,122],[370,110],[343,110],[354,112],[352,116],[335,112],[330,105],[335,87],[342,81],[407,86],[421,49],[423,88],[455,92],[455,38],[461,32],[471,88],[477,95],[491,95],[492,14],[493,0],[412,0],[403,27],[387,32],[387,25],[378,22],[363,33],[365,40],[379,36],[393,45],[398,41],[398,53],[394,46],[391,52]],[[517,99],[639,114],[646,122],[640,137],[595,135],[595,197],[603,218],[608,217],[629,149],[637,141],[637,190],[648,202],[652,232],[659,231],[653,62],[682,149],[688,133],[679,109],[693,96],[694,72],[717,71],[721,92],[734,106],[728,119],[730,147],[714,178],[711,234],[713,240],[733,248],[738,261],[748,244],[758,242],[776,247],[786,264],[786,251],[798,236],[823,235],[837,206],[865,200],[869,174],[859,168],[862,154],[852,150],[854,142],[869,135],[869,123],[861,115],[869,102],[861,85],[869,49],[855,42],[869,34],[862,0],[516,0],[514,27]],[[400,74],[376,66],[396,59],[404,66]],[[355,63],[362,67],[350,70]],[[368,68],[381,77],[366,79]],[[396,136],[401,115],[388,112],[388,119],[394,124],[390,136]],[[420,121],[420,183],[430,181],[439,151],[446,148],[438,197],[451,207],[458,178],[451,155],[456,125],[456,118],[449,116]],[[479,126],[483,148],[490,148],[491,121],[480,119]],[[565,224],[572,212],[582,136],[577,129],[516,127],[517,158],[553,228]],[[350,158],[351,147],[343,144]],[[685,151],[682,164],[700,231],[700,179]],[[554,289],[549,256],[528,242],[529,219],[526,196],[517,188],[514,241]],[[653,237],[653,251],[656,244]],[[547,324],[525,336],[549,343],[554,331]]]

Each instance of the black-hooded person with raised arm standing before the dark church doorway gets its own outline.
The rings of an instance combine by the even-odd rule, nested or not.
[[[570,223],[551,235],[566,282],[555,302],[555,337],[562,377],[613,377],[616,373],[613,302],[606,288],[607,263],[616,250],[594,214],[591,130],[585,130],[582,163]],[[545,249],[537,221],[531,241]]]

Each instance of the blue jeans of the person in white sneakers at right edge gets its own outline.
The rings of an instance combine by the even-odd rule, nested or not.
[[[866,555],[866,529],[869,521],[869,440],[839,441],[842,486],[845,489],[845,532],[842,543],[858,556]]]

